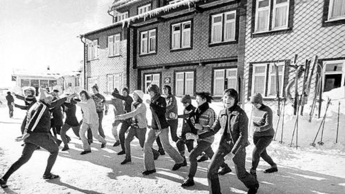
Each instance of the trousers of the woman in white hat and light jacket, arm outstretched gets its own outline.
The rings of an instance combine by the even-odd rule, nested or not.
[[[139,139],[139,144],[141,148],[144,148],[146,128],[130,127],[128,129],[128,134],[125,140],[126,147],[126,158],[130,158],[130,143],[134,139],[134,136]]]

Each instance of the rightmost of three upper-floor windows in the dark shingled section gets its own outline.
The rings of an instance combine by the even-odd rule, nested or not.
[[[211,16],[211,43],[234,41],[235,31],[236,11]]]

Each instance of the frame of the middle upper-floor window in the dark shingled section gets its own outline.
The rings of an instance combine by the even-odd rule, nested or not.
[[[189,24],[190,27],[186,30],[184,28],[184,25]],[[175,27],[179,27],[180,29],[178,31],[174,31]],[[189,46],[183,46],[184,42],[184,32],[189,31]],[[174,35],[179,34],[178,38],[178,47],[174,47]],[[191,49],[193,46],[193,20],[186,20],[186,21],[181,21],[178,23],[172,23],[170,25],[170,50],[185,50],[185,49]]]

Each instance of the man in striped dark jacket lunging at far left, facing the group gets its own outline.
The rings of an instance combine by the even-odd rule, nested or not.
[[[27,163],[31,158],[33,152],[40,146],[46,149],[50,155],[46,170],[43,173],[44,179],[59,178],[58,175],[52,174],[50,171],[58,156],[59,148],[54,138],[50,134],[50,113],[49,107],[61,105],[68,96],[56,101],[52,101],[52,96],[45,94],[43,89],[40,89],[40,100],[34,103],[27,114],[27,124],[25,126],[23,136],[18,140],[24,141],[24,148],[21,157],[17,162],[13,163],[8,171],[0,178],[0,185],[3,188],[7,187],[8,178],[17,171],[23,164]]]

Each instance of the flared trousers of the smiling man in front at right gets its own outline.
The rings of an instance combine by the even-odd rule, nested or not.
[[[231,145],[226,142],[226,140],[221,140],[219,143],[219,148],[213,155],[211,159],[211,163],[208,165],[207,169],[207,180],[208,180],[208,188],[209,192],[212,194],[219,194],[220,192],[220,184],[218,178],[218,170],[219,167],[224,162],[224,156],[230,153],[231,149],[234,147],[234,144]],[[247,188],[253,188],[255,184],[258,183],[256,178],[253,175],[250,175],[246,171],[246,148],[239,148],[235,157],[233,158],[233,162],[235,165],[236,175],[237,178],[244,183]]]

